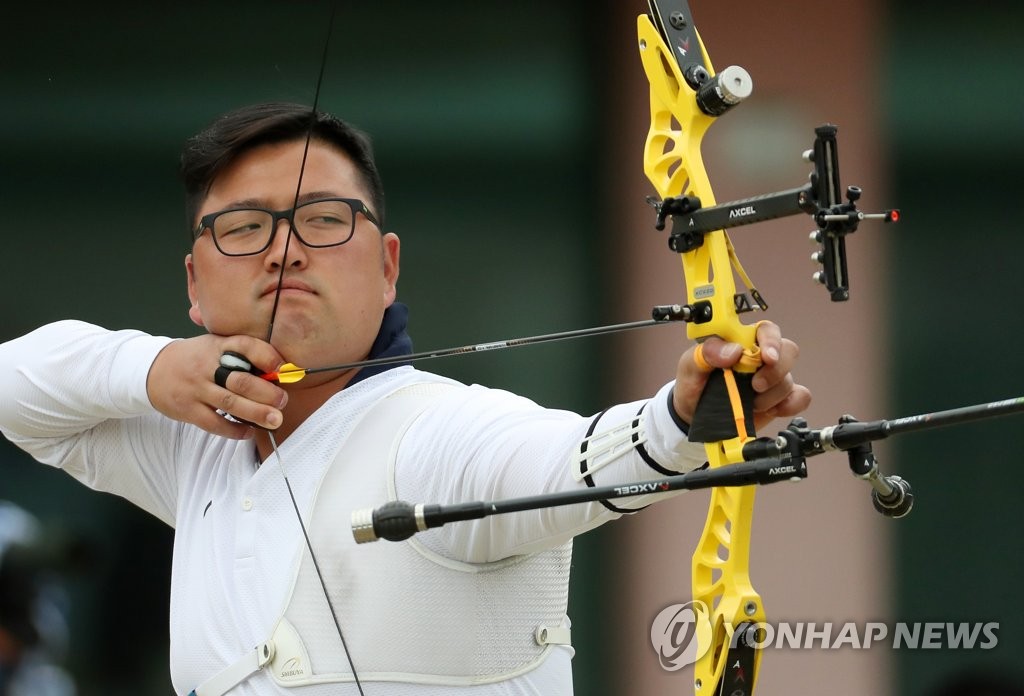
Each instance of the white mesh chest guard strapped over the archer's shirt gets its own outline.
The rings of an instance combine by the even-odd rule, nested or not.
[[[310,541],[360,681],[486,684],[527,672],[554,645],[569,644],[571,543],[476,564],[440,556],[415,537],[372,546],[352,538],[353,509],[396,498],[406,431],[459,388],[411,385],[368,409],[315,494]],[[259,668],[283,687],[353,681],[308,553],[268,644],[264,654],[272,657]]]

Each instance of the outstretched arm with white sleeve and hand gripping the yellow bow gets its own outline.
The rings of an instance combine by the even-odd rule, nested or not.
[[[756,409],[761,425],[807,406],[810,393],[794,384],[796,345],[773,324],[762,327],[767,356],[758,375]],[[706,342],[706,360],[728,366],[734,344]],[[647,401],[613,406],[592,418],[544,409],[506,392],[473,387],[425,414],[398,451],[398,497],[418,503],[493,501],[656,478],[703,464],[705,450],[686,439],[682,414],[692,414],[707,372],[692,349],[680,360],[677,381]],[[672,406],[670,406],[670,399]],[[681,404],[676,405],[676,404]],[[612,455],[602,446],[614,443]],[[460,560],[494,561],[564,543],[624,513],[667,494],[606,504],[499,515],[446,525],[421,535],[433,551]]]

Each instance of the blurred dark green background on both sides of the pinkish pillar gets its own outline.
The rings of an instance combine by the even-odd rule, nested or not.
[[[616,103],[602,42],[633,27],[607,26],[606,5],[582,0],[339,7],[322,106],[374,135],[417,347],[640,318],[604,310],[595,271],[623,244],[595,192],[607,167],[604,112]],[[1024,96],[1012,86],[1024,66],[1024,6],[903,0],[884,10],[884,80],[863,98],[880,102],[887,198],[905,215],[890,249],[890,335],[879,339],[893,355],[891,415],[1009,397],[1021,386],[1006,363],[1024,338],[1011,311],[1024,295],[1015,189]],[[6,8],[0,340],[65,317],[195,334],[180,145],[244,103],[310,102],[328,14],[324,3],[266,1]],[[636,74],[643,79],[639,64]],[[594,340],[429,367],[592,412],[605,402],[600,376],[621,368],[609,353]],[[1021,439],[1008,420],[895,445],[920,501],[895,536],[895,616],[1002,629],[991,654],[897,654],[892,693],[931,693],[961,668],[1019,664]],[[170,530],[5,441],[0,498],[100,549],[93,571],[71,584],[68,665],[81,693],[171,693]],[[575,578],[611,562],[601,534],[578,541]],[[603,694],[615,661],[602,612],[614,598],[575,580],[572,596],[577,691]]]

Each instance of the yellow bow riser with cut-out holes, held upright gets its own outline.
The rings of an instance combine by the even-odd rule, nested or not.
[[[698,206],[712,206],[715,198],[700,155],[700,142],[717,116],[698,107],[696,89],[691,83],[707,84],[715,72],[689,18],[686,3],[673,3],[673,10],[676,11],[672,15],[659,12],[657,3],[652,2],[651,17],[641,15],[637,21],[641,61],[650,83],[651,126],[644,150],[644,171],[660,195],[662,206],[674,197],[692,197],[699,199]],[[666,24],[670,16],[673,29],[680,30],[675,34]],[[684,61],[685,67],[681,64]],[[701,69],[705,73],[694,80],[693,72]],[[684,71],[688,74],[684,75]],[[760,364],[757,327],[738,319],[733,267],[741,276],[745,274],[738,266],[727,233],[719,229],[703,234],[692,241],[690,248],[682,250],[680,256],[688,304],[702,305],[710,314],[706,321],[688,323],[687,335],[697,341],[719,336],[740,344],[744,347],[744,360],[737,372],[752,376]],[[728,386],[735,376],[726,371],[723,378]],[[735,389],[729,388],[729,392],[733,396],[727,398],[734,416],[738,416],[738,424],[744,407],[738,403]],[[691,437],[693,434],[691,429]],[[711,438],[714,441],[706,442],[710,465],[720,467],[742,461],[740,448],[752,435],[752,430],[737,425],[732,437]],[[754,591],[749,573],[754,493],[753,486],[712,490],[707,522],[693,555],[693,599],[705,611],[698,616],[698,657],[694,665],[694,689],[698,694],[720,693],[725,684],[729,685],[725,693],[752,694],[756,683],[760,653],[744,647],[741,641],[737,647],[730,647],[736,643],[733,637],[737,632],[754,630],[766,620],[761,598]]]

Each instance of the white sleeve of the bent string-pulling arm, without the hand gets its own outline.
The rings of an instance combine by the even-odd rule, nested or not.
[[[58,321],[0,345],[0,432],[39,462],[171,524],[173,427],[145,390],[170,341]]]

